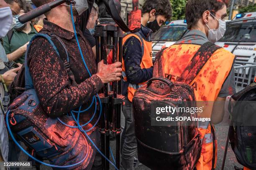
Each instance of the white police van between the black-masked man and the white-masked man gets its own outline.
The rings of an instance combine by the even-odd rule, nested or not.
[[[174,20],[162,27],[151,37],[153,61],[156,53],[164,47],[169,47],[180,40],[187,33],[187,20]]]

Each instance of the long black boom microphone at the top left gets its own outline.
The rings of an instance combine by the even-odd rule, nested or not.
[[[53,2],[44,4],[40,7],[37,7],[34,10],[29,11],[28,13],[26,13],[24,15],[21,15],[18,18],[18,20],[22,24],[27,23],[28,21],[33,20],[34,18],[39,17],[40,15],[43,15],[44,13],[49,12],[52,8],[57,7],[65,2],[67,2],[68,4],[75,3],[74,0],[54,0]]]

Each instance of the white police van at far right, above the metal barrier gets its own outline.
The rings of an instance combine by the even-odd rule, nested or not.
[[[237,14],[215,44],[236,55],[236,62],[256,62],[256,12]]]

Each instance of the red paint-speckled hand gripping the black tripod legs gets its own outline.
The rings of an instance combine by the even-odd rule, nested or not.
[[[122,75],[121,66],[121,62],[115,62],[111,65],[105,65],[102,60],[98,63],[98,72],[96,75],[100,77],[103,83],[119,81],[121,80],[120,76]]]

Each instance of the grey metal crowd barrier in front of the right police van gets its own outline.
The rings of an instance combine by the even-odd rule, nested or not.
[[[236,92],[250,85],[256,77],[256,62],[235,62]]]

